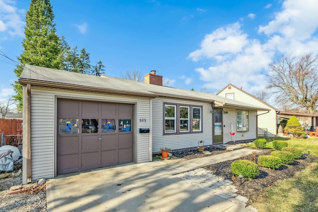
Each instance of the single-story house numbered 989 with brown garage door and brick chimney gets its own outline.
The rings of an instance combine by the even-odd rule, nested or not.
[[[160,147],[252,141],[257,112],[268,111],[211,93],[162,86],[156,71],[146,74],[145,82],[26,65],[19,78],[23,184],[149,162]]]

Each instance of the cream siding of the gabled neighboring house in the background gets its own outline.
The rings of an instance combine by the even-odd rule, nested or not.
[[[277,133],[276,131],[276,111],[274,108],[264,104],[262,101],[257,100],[246,93],[242,92],[241,90],[232,86],[231,90],[225,88],[222,90],[218,95],[226,97],[227,93],[234,93],[234,100],[245,102],[251,105],[255,105],[261,108],[270,109],[268,113],[266,111],[258,111],[257,114],[263,114],[258,116],[258,136],[264,136],[264,130],[267,130],[267,136],[274,137]]]

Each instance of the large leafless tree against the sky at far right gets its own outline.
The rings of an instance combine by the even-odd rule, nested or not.
[[[282,56],[269,64],[268,86],[281,105],[315,113],[318,102],[318,55]]]

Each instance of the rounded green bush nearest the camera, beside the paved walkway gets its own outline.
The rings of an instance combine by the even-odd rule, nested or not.
[[[259,175],[259,169],[256,163],[249,160],[236,160],[231,163],[231,171],[235,176],[240,174],[244,178],[252,179]]]

